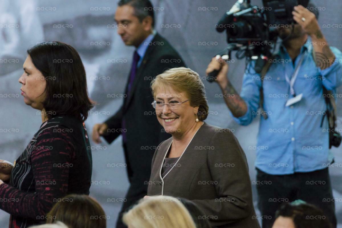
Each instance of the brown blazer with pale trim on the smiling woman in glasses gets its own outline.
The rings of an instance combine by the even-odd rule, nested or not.
[[[161,178],[161,166],[172,137],[152,160],[147,195],[193,201],[212,226],[260,228],[256,219],[246,155],[228,130],[204,123],[174,167]]]

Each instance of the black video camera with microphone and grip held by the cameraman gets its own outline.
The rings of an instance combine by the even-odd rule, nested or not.
[[[294,6],[307,7],[309,0],[263,0],[263,7],[252,5],[250,0],[238,0],[227,11],[215,28],[218,32],[226,30],[228,46],[218,53],[229,60],[231,52],[237,51],[238,59],[255,60],[255,71],[260,73],[266,60],[271,56],[272,47],[277,41],[277,28],[294,24]],[[218,70],[209,73],[207,80],[213,82]]]

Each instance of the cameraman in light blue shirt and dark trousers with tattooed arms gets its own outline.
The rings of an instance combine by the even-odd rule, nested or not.
[[[258,114],[260,88],[268,118],[260,119],[257,143],[258,206],[262,227],[272,227],[282,202],[304,200],[322,209],[333,227],[336,216],[327,166],[333,162],[329,150],[328,121],[321,121],[327,104],[323,86],[335,90],[342,83],[342,53],[330,47],[316,16],[301,5],[292,12],[298,23],[279,29],[283,39],[263,82],[250,62],[240,95],[227,79],[228,65],[213,58],[207,74],[220,70],[216,82],[233,118],[248,125]],[[285,39],[286,38],[286,39]],[[297,72],[295,72],[298,68]],[[265,184],[267,183],[267,184]]]

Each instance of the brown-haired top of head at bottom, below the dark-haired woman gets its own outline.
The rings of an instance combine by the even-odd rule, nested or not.
[[[106,228],[101,205],[87,195],[68,195],[52,207],[46,223],[61,221],[72,228]]]

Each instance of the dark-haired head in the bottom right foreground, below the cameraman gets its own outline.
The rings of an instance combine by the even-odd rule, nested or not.
[[[276,211],[272,228],[332,228],[332,225],[315,205],[296,200],[283,203]]]

